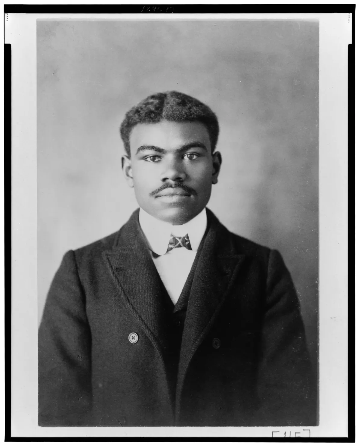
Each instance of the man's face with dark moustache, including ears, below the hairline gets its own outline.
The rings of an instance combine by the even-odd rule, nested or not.
[[[211,154],[202,123],[160,121],[133,128],[130,159],[123,156],[122,164],[139,206],[159,220],[180,225],[206,206],[221,157]]]

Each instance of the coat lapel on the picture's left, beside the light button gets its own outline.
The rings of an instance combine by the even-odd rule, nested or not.
[[[108,268],[130,310],[160,352],[164,347],[165,309],[159,275],[135,211],[120,230],[112,250],[104,252]]]

